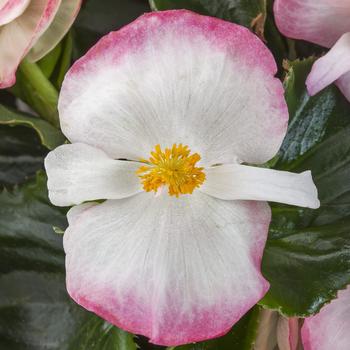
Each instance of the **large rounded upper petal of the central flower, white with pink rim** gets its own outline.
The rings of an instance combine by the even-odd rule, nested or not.
[[[62,130],[113,158],[183,143],[204,164],[265,162],[287,128],[275,73],[269,50],[244,27],[185,10],[146,14],[71,68]]]

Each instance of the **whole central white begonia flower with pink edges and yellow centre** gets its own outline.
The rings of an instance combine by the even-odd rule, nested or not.
[[[64,249],[77,303],[177,345],[226,333],[261,299],[265,201],[319,206],[309,171],[242,164],[286,134],[276,71],[248,29],[185,10],[146,14],[73,65],[59,99],[71,144],[45,167],[52,203],[76,205]]]

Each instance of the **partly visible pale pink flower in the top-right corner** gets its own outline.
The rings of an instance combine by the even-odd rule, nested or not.
[[[350,101],[350,1],[276,0],[274,13],[287,37],[332,48],[313,65],[306,81],[309,94],[335,82]]]

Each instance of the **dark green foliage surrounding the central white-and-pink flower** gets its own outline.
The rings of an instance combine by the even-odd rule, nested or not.
[[[23,64],[16,86],[0,91],[1,349],[162,349],[109,325],[68,297],[62,236],[56,233],[66,227],[65,210],[50,205],[41,171],[47,152],[64,142],[56,104],[71,62],[150,6],[187,8],[242,24],[276,58],[290,123],[280,153],[267,166],[311,169],[322,205],[316,211],[272,205],[263,259],[271,289],[260,305],[288,316],[308,316],[350,283],[350,105],[334,86],[315,97],[307,95],[306,76],[323,49],[283,37],[274,24],[272,3],[88,0],[64,40],[39,63]],[[37,84],[26,79],[28,72],[35,74]],[[15,96],[30,105],[28,113],[17,111]],[[259,313],[260,307],[254,307],[222,338],[176,349],[252,349]]]

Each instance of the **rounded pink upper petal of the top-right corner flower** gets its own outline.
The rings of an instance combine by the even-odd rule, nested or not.
[[[274,13],[284,35],[326,47],[350,31],[349,0],[275,0]]]

